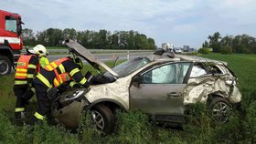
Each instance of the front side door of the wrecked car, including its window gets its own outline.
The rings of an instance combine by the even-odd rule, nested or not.
[[[170,63],[135,76],[140,80],[138,85],[130,87],[130,108],[154,116],[182,115],[190,65],[189,62]]]

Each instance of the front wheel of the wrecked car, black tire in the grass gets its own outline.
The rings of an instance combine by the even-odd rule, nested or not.
[[[110,134],[114,129],[114,116],[112,110],[104,105],[91,108],[91,120],[94,127],[103,134]]]

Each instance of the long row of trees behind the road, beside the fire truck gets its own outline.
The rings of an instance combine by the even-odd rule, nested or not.
[[[73,39],[89,49],[155,49],[155,40],[137,31],[114,31],[105,29],[99,31],[77,31],[74,28],[48,28],[37,31],[23,29],[23,43],[25,46],[61,46],[59,40]]]

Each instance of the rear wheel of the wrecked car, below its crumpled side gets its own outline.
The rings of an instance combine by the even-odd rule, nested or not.
[[[209,115],[218,124],[223,124],[229,121],[231,114],[231,105],[225,98],[212,98],[209,103]]]

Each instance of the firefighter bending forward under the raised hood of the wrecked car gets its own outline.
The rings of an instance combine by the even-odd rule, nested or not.
[[[34,125],[42,121],[48,115],[52,98],[48,98],[48,90],[52,87],[59,87],[69,80],[75,80],[83,87],[89,87],[87,79],[82,76],[80,69],[81,60],[77,58],[60,58],[51,62],[48,66],[41,68],[37,77],[34,78],[37,95],[37,109],[30,121]]]

